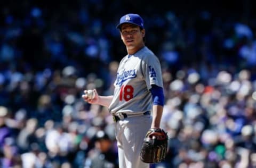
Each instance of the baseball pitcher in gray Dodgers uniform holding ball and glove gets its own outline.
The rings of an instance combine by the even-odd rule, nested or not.
[[[113,96],[93,96],[84,90],[86,102],[109,108],[116,128],[119,167],[148,168],[161,162],[167,135],[159,128],[163,105],[163,81],[158,58],[145,46],[140,15],[126,14],[117,25],[127,55],[119,63]]]

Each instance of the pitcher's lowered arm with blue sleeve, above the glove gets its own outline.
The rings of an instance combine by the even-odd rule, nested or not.
[[[160,128],[164,106],[163,88],[156,85],[152,85],[150,92],[153,98],[153,120],[151,123],[151,128]]]

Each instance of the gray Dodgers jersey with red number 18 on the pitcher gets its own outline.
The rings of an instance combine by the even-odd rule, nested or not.
[[[163,87],[161,65],[147,47],[126,55],[117,70],[110,113],[141,113],[151,110],[151,85]]]

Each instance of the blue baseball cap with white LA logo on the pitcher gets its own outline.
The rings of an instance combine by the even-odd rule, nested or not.
[[[121,29],[121,25],[122,25],[123,23],[135,24],[135,25],[141,27],[142,29],[144,29],[143,19],[142,19],[141,16],[138,15],[138,14],[129,13],[129,14],[126,14],[126,15],[122,16],[122,18],[120,19],[120,22],[119,22],[119,24],[116,26],[116,28],[117,28],[117,29]]]

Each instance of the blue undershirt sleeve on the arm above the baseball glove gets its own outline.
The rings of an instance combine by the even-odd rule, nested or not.
[[[164,91],[162,87],[152,85],[150,92],[153,97],[153,105],[164,106]]]

